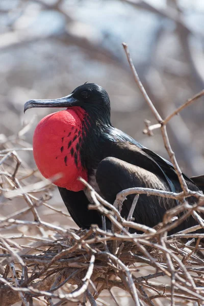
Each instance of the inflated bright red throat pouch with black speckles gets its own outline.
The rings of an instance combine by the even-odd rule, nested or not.
[[[85,115],[81,107],[49,114],[38,123],[33,136],[33,155],[41,174],[46,179],[61,174],[54,184],[72,191],[85,187],[79,176],[87,181],[79,150]]]

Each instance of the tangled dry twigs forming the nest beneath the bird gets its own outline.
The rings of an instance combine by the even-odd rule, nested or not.
[[[86,183],[88,186],[88,184]],[[203,234],[191,234],[195,229],[166,236],[168,226],[148,228],[121,218],[119,211],[102,199],[90,186],[94,200],[92,209],[107,216],[115,231],[101,230],[92,225],[90,230],[64,230],[43,221],[7,219],[1,227],[20,224],[38,226],[52,231],[50,237],[1,236],[3,259],[0,277],[3,305],[21,300],[28,305],[31,299],[45,297],[48,304],[76,303],[84,299],[96,305],[95,299],[107,288],[117,287],[130,293],[135,305],[156,305],[158,298],[171,297],[175,301],[203,302],[203,257],[198,252]],[[29,195],[28,195],[29,196]],[[194,211],[198,209],[194,207]],[[107,209],[108,208],[108,209]],[[178,212],[174,210],[174,215]],[[173,215],[171,211],[171,216]],[[136,228],[144,234],[131,235],[125,226]],[[47,235],[48,236],[48,235]],[[50,236],[50,235],[49,235]],[[184,243],[181,238],[192,238]],[[22,249],[17,239],[34,242]],[[198,238],[195,245],[194,238]],[[138,277],[142,266],[154,268],[154,273]],[[158,280],[160,277],[160,280]],[[162,278],[161,278],[162,277]],[[171,279],[171,286],[164,285]],[[164,279],[164,281],[162,280]],[[154,282],[153,282],[154,280]],[[77,285],[77,290],[72,286]],[[59,288],[64,293],[58,293]],[[68,293],[67,293],[68,291]]]

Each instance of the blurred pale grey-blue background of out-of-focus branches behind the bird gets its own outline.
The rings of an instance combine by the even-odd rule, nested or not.
[[[145,119],[156,120],[134,83],[123,41],[162,117],[204,89],[201,0],[1,0],[1,148],[31,147],[35,126],[53,112],[23,114],[25,101],[65,96],[88,81],[109,93],[114,126],[168,158],[160,130],[153,137],[142,133]],[[203,102],[200,98],[168,123],[172,148],[188,175],[204,173]],[[36,169],[32,151],[18,154],[24,168]],[[30,182],[40,177],[34,173]],[[66,212],[58,191],[52,192],[50,203]],[[11,213],[11,206],[12,211],[25,207],[21,198],[0,200],[2,216]],[[46,207],[39,212],[45,221],[75,226]]]

